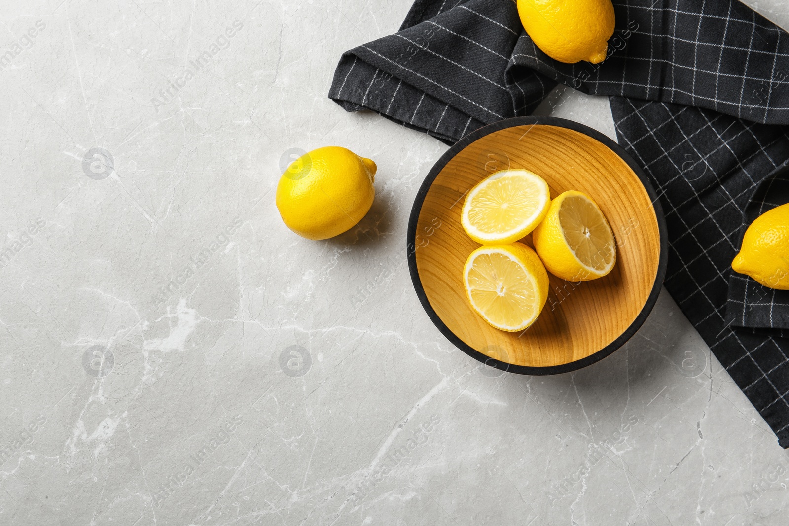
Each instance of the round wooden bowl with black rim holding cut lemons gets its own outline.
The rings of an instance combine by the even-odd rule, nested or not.
[[[462,268],[480,245],[466,235],[466,193],[491,173],[525,168],[552,198],[585,192],[602,209],[617,243],[604,278],[579,284],[551,275],[548,302],[528,329],[489,326],[466,299]],[[531,236],[525,237],[531,245]],[[619,144],[578,122],[511,118],[470,133],[432,167],[408,226],[408,263],[424,310],[469,356],[523,375],[574,371],[619,349],[652,310],[666,272],[666,223],[649,180]]]

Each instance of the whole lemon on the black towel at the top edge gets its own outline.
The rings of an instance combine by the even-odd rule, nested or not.
[[[603,62],[614,34],[611,0],[518,0],[518,15],[534,45],[568,64]]]

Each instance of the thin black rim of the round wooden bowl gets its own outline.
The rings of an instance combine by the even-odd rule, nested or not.
[[[660,259],[658,261],[655,283],[653,284],[652,291],[649,293],[649,297],[647,297],[644,307],[641,308],[641,311],[638,313],[633,323],[630,323],[630,326],[628,326],[618,338],[616,338],[614,341],[611,341],[611,343],[596,353],[586,356],[585,358],[581,358],[581,360],[575,360],[573,362],[568,362],[567,364],[552,365],[548,367],[531,367],[527,365],[508,364],[507,362],[495,360],[490,356],[484,355],[483,353],[477,351],[477,349],[473,349],[473,347],[468,345],[465,341],[462,341],[449,329],[449,327],[443,323],[443,321],[439,318],[439,315],[436,314],[436,311],[432,308],[427,295],[424,293],[422,282],[419,278],[419,272],[417,271],[417,247],[415,244],[417,222],[419,222],[419,215],[422,210],[422,204],[424,204],[424,198],[427,196],[428,190],[432,186],[433,181],[436,181],[438,174],[441,172],[441,170],[443,170],[444,166],[447,166],[447,162],[449,162],[452,158],[454,158],[455,155],[458,155],[458,153],[462,151],[463,148],[474,141],[479,140],[492,132],[498,132],[502,129],[523,125],[549,125],[558,126],[559,128],[572,129],[576,132],[581,132],[587,136],[592,137],[593,139],[610,148],[611,151],[614,151],[616,155],[619,155],[619,157],[627,163],[627,166],[630,166],[630,169],[633,170],[636,176],[638,176],[638,179],[641,181],[641,185],[644,186],[649,198],[652,200],[653,210],[655,211],[655,217],[657,219],[658,232],[660,233]],[[461,140],[458,140],[457,143],[450,147],[450,149],[439,158],[436,164],[434,164],[431,168],[430,172],[428,172],[427,177],[425,177],[424,181],[422,181],[419,192],[417,192],[417,197],[413,201],[413,207],[411,208],[411,215],[409,216],[408,221],[406,252],[409,273],[411,274],[411,282],[413,283],[413,288],[416,290],[417,297],[422,304],[422,308],[424,308],[424,311],[427,312],[428,317],[432,320],[433,324],[436,325],[438,330],[441,331],[441,334],[451,341],[458,349],[473,357],[475,360],[479,360],[483,364],[489,365],[490,367],[495,367],[501,371],[510,371],[517,373],[518,375],[558,375],[565,372],[577,371],[582,367],[587,367],[602,360],[606,356],[613,353],[616,349],[619,349],[619,347],[624,345],[625,342],[630,340],[630,338],[636,334],[638,329],[641,328],[641,325],[644,324],[647,316],[649,316],[649,312],[651,312],[655,306],[657,297],[660,294],[660,289],[663,286],[663,281],[666,276],[668,237],[666,218],[663,212],[663,207],[660,206],[660,200],[658,200],[655,189],[653,188],[652,183],[649,182],[649,178],[647,178],[643,170],[641,170],[641,166],[636,164],[633,158],[631,158],[630,155],[626,153],[623,147],[619,146],[619,144],[615,143],[614,140],[611,140],[611,138],[604,135],[603,133],[598,132],[596,129],[589,128],[589,126],[581,124],[580,122],[569,121],[567,119],[558,117],[529,116],[508,118],[504,119],[503,121],[496,121],[492,124],[485,125],[480,129],[474,130],[473,132],[464,136]]]

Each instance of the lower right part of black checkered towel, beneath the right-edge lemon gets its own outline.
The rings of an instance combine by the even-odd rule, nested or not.
[[[611,108],[619,142],[664,190],[658,192],[671,238],[667,289],[780,435],[789,429],[789,340],[783,338],[783,330],[745,328],[735,322],[754,308],[770,320],[776,308],[784,307],[789,315],[789,291],[771,290],[754,301],[755,282],[732,274],[731,260],[739,250],[744,226],[765,209],[789,202],[789,166],[784,163],[789,156],[787,129],[688,106],[618,97],[611,99]],[[725,141],[720,134],[723,125],[734,129]],[[657,129],[662,132],[656,133]],[[686,151],[705,159],[710,167],[701,181],[689,181],[675,160],[683,159]],[[785,194],[776,193],[778,181],[786,183]],[[701,191],[696,182],[701,183]],[[708,206],[713,192],[719,200],[714,209]],[[689,221],[690,217],[697,221]],[[699,279],[705,275],[707,279]],[[738,289],[735,284],[742,286]],[[732,294],[739,296],[732,299]],[[732,312],[733,306],[737,312]],[[787,437],[780,438],[784,446],[789,445]]]

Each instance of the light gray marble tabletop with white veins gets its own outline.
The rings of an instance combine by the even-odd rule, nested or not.
[[[3,2],[0,524],[787,524],[787,453],[667,293],[552,377],[429,321],[406,224],[447,147],[326,97],[408,8]],[[605,99],[538,113],[614,136]],[[331,144],[376,202],[308,241],[280,159]]]

